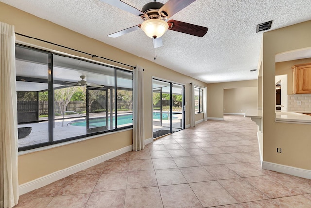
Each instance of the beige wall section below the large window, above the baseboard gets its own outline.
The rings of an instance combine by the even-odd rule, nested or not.
[[[18,157],[19,184],[132,145],[132,130]]]

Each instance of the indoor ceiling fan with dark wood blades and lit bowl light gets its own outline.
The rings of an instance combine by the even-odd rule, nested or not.
[[[168,18],[172,17],[174,14],[176,14],[177,12],[187,7],[196,0],[169,0],[165,4],[154,0],[154,2],[149,2],[145,4],[141,9],[142,11],[121,0],[100,1],[137,15],[144,21],[142,24],[138,24],[133,27],[109,34],[109,37],[116,38],[141,28],[147,36],[153,38],[154,48],[157,48],[163,45],[161,36],[168,29],[198,37],[203,37],[208,30],[207,27],[194,25],[186,22],[176,20],[167,21]]]

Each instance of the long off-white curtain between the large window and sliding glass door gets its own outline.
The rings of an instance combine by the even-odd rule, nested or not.
[[[145,148],[143,69],[133,69],[133,150]]]

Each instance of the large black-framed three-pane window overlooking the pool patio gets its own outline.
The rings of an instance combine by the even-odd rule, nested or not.
[[[132,127],[133,73],[16,45],[20,151]]]

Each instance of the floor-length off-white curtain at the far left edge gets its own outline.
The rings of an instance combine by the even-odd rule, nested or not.
[[[0,203],[18,203],[18,132],[14,26],[0,22]]]

